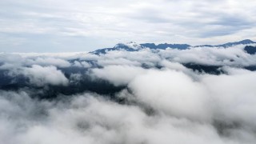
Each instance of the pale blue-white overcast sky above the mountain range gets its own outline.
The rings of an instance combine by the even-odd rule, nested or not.
[[[1,52],[256,40],[255,0],[1,0]]]

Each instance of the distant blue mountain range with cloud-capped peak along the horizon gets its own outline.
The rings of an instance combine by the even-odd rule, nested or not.
[[[200,46],[191,46],[188,44],[168,44],[168,43],[163,43],[163,44],[154,44],[154,43],[142,43],[142,44],[137,44],[136,42],[128,42],[126,44],[124,43],[118,43],[112,48],[103,48],[103,49],[98,49],[90,52],[91,54],[106,54],[107,51],[114,51],[114,50],[125,50],[125,51],[138,51],[142,50],[145,48],[149,48],[152,50],[166,50],[167,48],[171,49],[178,49],[178,50],[186,50],[189,48],[193,47],[230,47],[230,46],[236,46],[236,45],[252,45],[255,44],[256,42],[251,41],[250,39],[245,39],[239,42],[228,42],[224,43],[221,45],[200,45]]]

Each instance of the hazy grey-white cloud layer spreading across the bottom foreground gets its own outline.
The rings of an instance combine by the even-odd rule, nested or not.
[[[240,130],[239,135],[220,137],[210,123],[193,122],[168,115],[146,115],[139,106],[120,105],[94,94],[77,95],[70,102],[37,102],[24,92],[1,92],[0,138],[6,144],[32,143],[254,143],[255,138]],[[9,97],[9,98],[8,98]],[[20,101],[15,101],[19,98]],[[26,109],[29,107],[29,109]],[[40,115],[42,108],[45,115]],[[39,109],[39,110],[38,110]],[[19,115],[15,115],[20,113]],[[24,115],[21,115],[24,114]],[[31,117],[34,114],[34,117]],[[22,126],[22,127],[21,127]],[[234,130],[235,132],[235,130]]]

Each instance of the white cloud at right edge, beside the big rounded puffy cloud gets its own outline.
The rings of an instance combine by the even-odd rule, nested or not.
[[[256,115],[256,73],[235,69],[228,71],[230,75],[206,75],[202,78],[203,84],[208,87],[209,95],[212,95],[217,103],[218,117],[256,126],[255,122],[250,121]]]

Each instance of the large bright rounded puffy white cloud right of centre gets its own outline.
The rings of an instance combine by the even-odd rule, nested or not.
[[[197,120],[211,117],[205,88],[182,72],[153,70],[135,78],[129,87],[138,100],[166,114]]]

